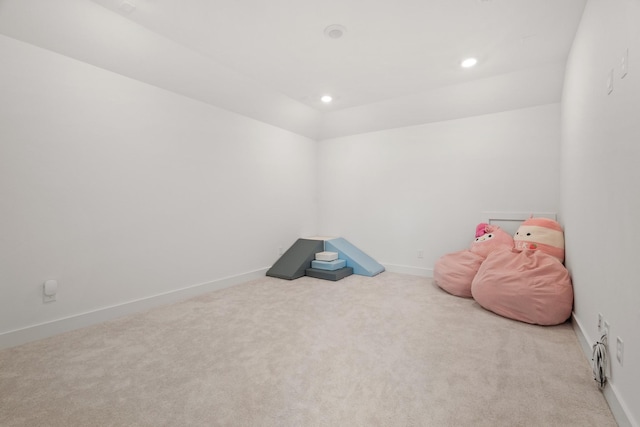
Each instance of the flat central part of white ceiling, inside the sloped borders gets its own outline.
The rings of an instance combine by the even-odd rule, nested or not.
[[[94,0],[314,108],[564,61],[584,0]],[[324,35],[331,24],[347,32]],[[479,59],[461,69],[468,56]]]

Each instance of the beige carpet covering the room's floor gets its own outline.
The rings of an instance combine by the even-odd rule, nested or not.
[[[0,352],[1,426],[614,426],[570,324],[265,277]]]

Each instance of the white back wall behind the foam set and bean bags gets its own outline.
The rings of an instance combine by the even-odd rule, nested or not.
[[[557,212],[559,144],[559,104],[321,141],[319,232],[429,275],[483,212]]]

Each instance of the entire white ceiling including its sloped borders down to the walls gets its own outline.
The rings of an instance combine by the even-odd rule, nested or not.
[[[585,3],[0,0],[0,34],[326,138],[558,102]]]

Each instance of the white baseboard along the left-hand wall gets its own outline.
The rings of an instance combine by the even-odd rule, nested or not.
[[[137,300],[127,301],[122,304],[103,307],[61,319],[4,332],[0,334],[0,350],[47,338],[63,332],[72,331],[74,329],[95,325],[107,320],[113,320],[118,317],[148,310],[161,305],[183,301],[207,292],[235,286],[240,283],[263,277],[267,270],[268,267],[265,267],[235,276],[223,277],[211,282],[199,283]]]

